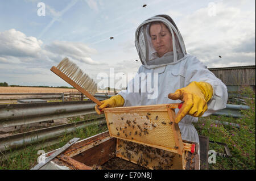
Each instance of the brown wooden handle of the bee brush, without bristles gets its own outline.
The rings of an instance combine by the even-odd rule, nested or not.
[[[100,102],[100,100],[96,99],[92,94],[90,94],[88,91],[82,89],[79,85],[77,85],[76,82],[72,81],[71,78],[69,78],[67,75],[62,73],[59,69],[57,69],[55,66],[52,66],[51,71],[58,75],[60,78],[62,78],[64,81],[69,83],[69,85],[75,87],[77,90],[82,92],[82,94],[86,95],[90,100],[92,100],[94,103],[96,103],[98,106],[101,106],[103,103]]]

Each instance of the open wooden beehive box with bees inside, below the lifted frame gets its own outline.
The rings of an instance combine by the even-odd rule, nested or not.
[[[198,145],[189,141],[183,141],[183,145],[185,159],[181,166],[177,153],[110,137],[106,131],[76,142],[42,169],[199,169]]]

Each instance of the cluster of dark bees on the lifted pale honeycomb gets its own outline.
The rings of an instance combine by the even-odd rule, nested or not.
[[[136,118],[134,118],[134,120],[130,121],[130,120],[125,120],[123,117],[121,117],[122,121],[126,121],[125,122],[125,127],[115,127],[116,131],[117,131],[117,136],[122,136],[125,138],[131,138],[131,140],[134,139],[134,136],[146,136],[148,133],[148,127],[153,127],[156,128],[158,125],[156,123],[149,123],[148,121],[150,121],[150,117],[151,119],[155,119],[158,120],[158,115],[156,115],[154,118],[152,118],[151,113],[147,113],[146,115],[146,119],[145,122],[142,124],[137,124]],[[108,123],[109,126],[113,124],[113,122],[109,122]],[[173,122],[170,121],[169,123],[166,123],[165,121],[160,122],[160,124],[163,125],[172,125]],[[131,129],[127,129],[127,128],[131,128],[133,129],[132,131],[127,131],[127,130],[131,130]]]

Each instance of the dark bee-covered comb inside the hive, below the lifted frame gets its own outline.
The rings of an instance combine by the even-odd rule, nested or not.
[[[129,159],[130,162],[133,160],[138,165],[147,169],[151,167],[154,170],[172,169],[175,157],[175,153],[171,153],[170,151],[125,140],[119,140],[118,154]]]

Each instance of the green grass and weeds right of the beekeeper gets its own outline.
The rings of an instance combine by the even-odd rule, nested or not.
[[[250,110],[241,111],[243,117],[234,119],[224,116],[209,116],[199,119],[195,128],[199,135],[209,137],[209,140],[223,142],[228,145],[232,157],[218,157],[216,163],[209,164],[209,169],[253,169],[255,170],[255,92],[249,87],[243,87],[243,94],[249,95],[246,105]],[[216,124],[210,119],[237,123],[240,128],[232,125]],[[210,150],[224,153],[224,148],[217,144],[210,144]]]

